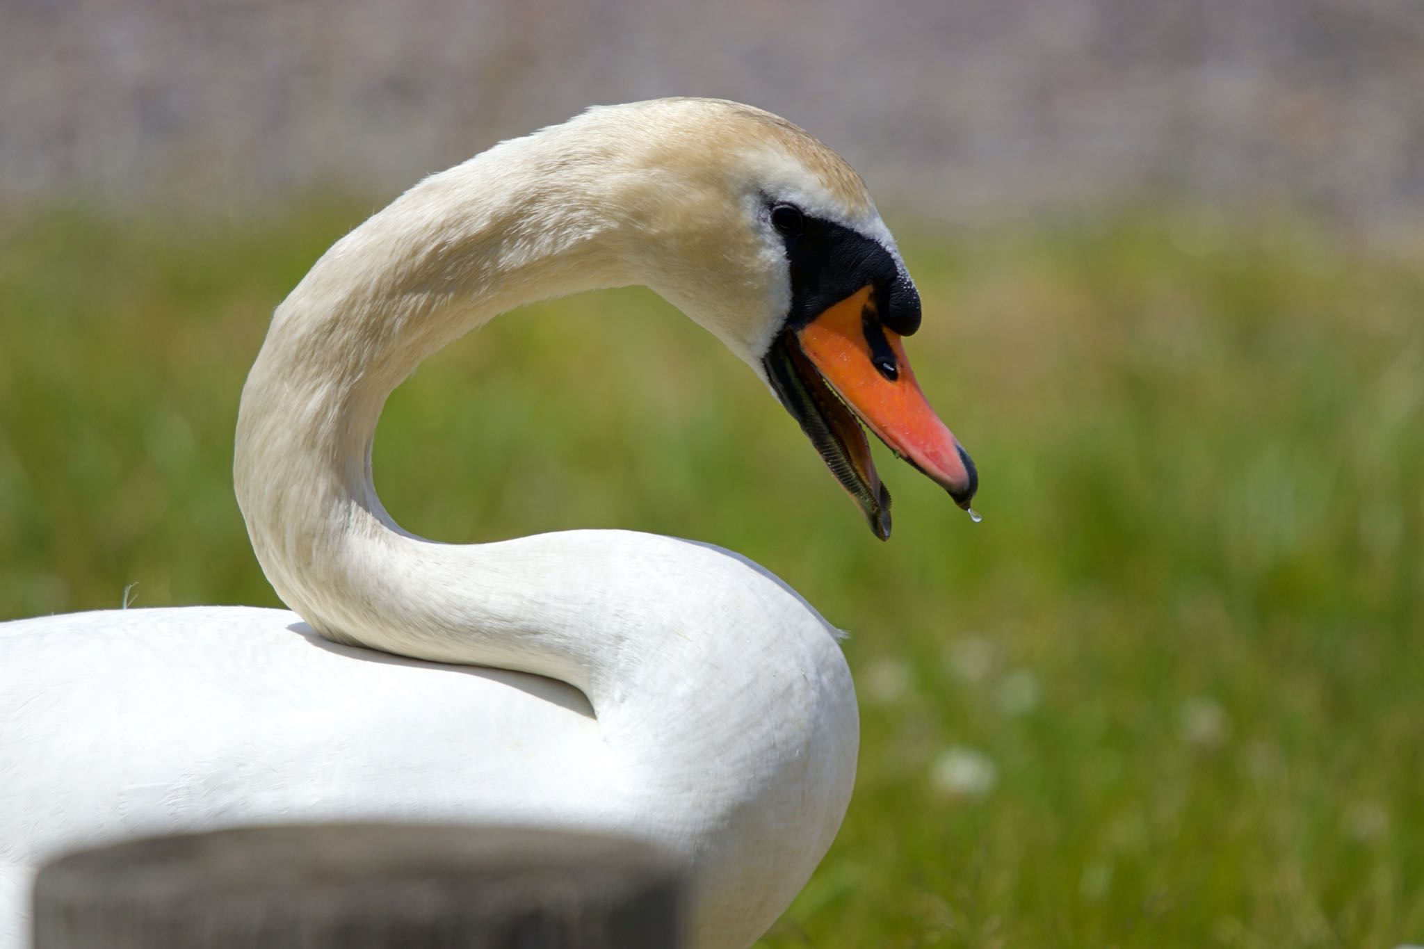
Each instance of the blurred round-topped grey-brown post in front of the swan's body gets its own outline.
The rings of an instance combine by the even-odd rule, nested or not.
[[[315,824],[155,837],[61,857],[36,949],[675,949],[656,849],[545,829]]]

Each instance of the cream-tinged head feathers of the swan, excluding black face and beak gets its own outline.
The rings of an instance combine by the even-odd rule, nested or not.
[[[595,107],[530,138],[540,137],[598,152],[598,203],[618,222],[602,239],[627,267],[625,279],[649,286],[759,374],[792,297],[772,205],[793,203],[842,223],[899,262],[860,175],[770,112],[725,100],[666,98]],[[588,157],[581,151],[580,159]]]

